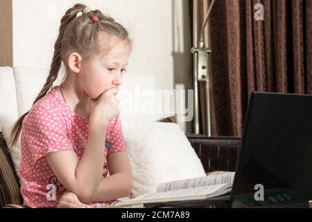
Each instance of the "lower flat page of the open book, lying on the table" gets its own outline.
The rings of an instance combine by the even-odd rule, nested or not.
[[[175,200],[200,200],[227,194],[231,191],[232,185],[220,184],[208,187],[194,187],[190,189],[177,189],[171,191],[162,191],[155,194],[146,194],[131,200],[123,200],[120,205],[152,203],[158,201],[175,201]]]

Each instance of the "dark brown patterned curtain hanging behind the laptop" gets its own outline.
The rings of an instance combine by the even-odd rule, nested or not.
[[[257,3],[263,21],[254,19]],[[208,26],[212,135],[241,136],[253,91],[312,94],[312,0],[216,0]],[[201,133],[205,101],[201,86]]]

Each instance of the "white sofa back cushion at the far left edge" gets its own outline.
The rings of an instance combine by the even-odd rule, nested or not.
[[[0,67],[0,130],[17,119],[15,80],[11,67]]]

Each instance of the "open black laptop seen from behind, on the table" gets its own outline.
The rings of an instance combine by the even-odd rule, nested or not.
[[[253,92],[229,195],[144,207],[308,207],[312,95]]]

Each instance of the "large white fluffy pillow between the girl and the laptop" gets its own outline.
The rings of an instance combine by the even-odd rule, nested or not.
[[[130,198],[155,193],[161,182],[206,175],[200,159],[176,123],[121,121],[132,171]]]

